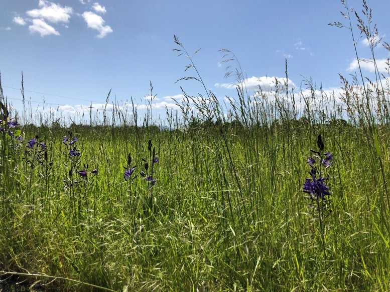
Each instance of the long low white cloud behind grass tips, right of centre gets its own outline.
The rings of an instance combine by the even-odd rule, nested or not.
[[[227,89],[234,89],[237,88],[239,85],[240,87],[245,87],[247,90],[258,90],[258,87],[260,87],[263,91],[274,91],[276,88],[276,81],[278,81],[279,86],[284,86],[284,84],[288,83],[288,86],[290,88],[295,87],[295,84],[289,79],[286,80],[284,77],[268,77],[268,76],[262,76],[262,77],[250,77],[245,79],[241,84],[236,83],[216,83],[214,84],[215,87],[223,87]]]

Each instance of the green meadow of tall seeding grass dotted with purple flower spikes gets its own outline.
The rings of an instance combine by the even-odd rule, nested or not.
[[[1,90],[0,279],[48,291],[389,291],[389,75],[340,76],[332,95],[310,80],[307,94],[283,81],[249,93],[230,74],[236,97],[183,90],[164,127],[151,104],[143,122],[134,105],[133,118],[114,106],[99,121],[22,124]]]

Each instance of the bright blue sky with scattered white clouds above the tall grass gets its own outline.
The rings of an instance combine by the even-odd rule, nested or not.
[[[362,10],[361,0],[349,0]],[[389,0],[367,0],[379,38],[390,42]],[[340,88],[339,74],[356,70],[350,31],[328,26],[348,19],[340,1],[312,0],[0,0],[0,73],[4,95],[21,112],[21,80],[25,98],[36,113],[53,108],[63,115],[80,109],[118,104],[131,98],[144,109],[150,99],[155,114],[176,109],[172,98],[205,95],[189,60],[174,43],[180,40],[208,90],[221,101],[236,96],[234,78],[224,78],[221,49],[238,59],[250,90],[267,87],[275,77],[299,89],[305,78],[326,90]],[[359,58],[369,58],[367,41],[359,38],[351,17]],[[195,55],[192,55],[196,50]],[[379,70],[389,52],[378,45]],[[364,64],[363,74],[372,74]],[[271,85],[270,85],[271,86]],[[45,102],[45,105],[44,105]],[[82,112],[82,110],[81,110]]]

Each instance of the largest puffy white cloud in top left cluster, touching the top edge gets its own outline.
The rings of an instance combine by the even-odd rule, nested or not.
[[[27,15],[35,19],[45,19],[51,23],[68,23],[73,9],[67,6],[60,6],[45,0],[39,1],[41,9],[27,11]]]

